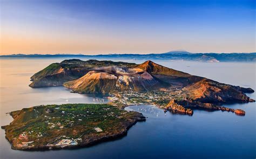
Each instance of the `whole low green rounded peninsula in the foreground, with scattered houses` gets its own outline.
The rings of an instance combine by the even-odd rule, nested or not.
[[[108,104],[41,105],[10,114],[14,121],[2,128],[17,150],[91,146],[120,138],[137,121],[145,121],[141,113]]]

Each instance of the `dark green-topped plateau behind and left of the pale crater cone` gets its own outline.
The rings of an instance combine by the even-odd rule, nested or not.
[[[98,61],[98,60],[64,60],[60,63],[52,63],[31,77],[33,81],[29,86],[39,88],[43,86],[59,86],[64,82],[80,78],[92,68],[103,66],[133,67],[135,63]]]

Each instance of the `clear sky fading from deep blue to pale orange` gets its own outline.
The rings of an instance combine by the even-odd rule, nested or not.
[[[0,54],[256,52],[255,3],[0,0]]]

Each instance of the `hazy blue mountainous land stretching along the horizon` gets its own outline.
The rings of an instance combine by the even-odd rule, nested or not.
[[[185,60],[200,62],[256,62],[256,53],[190,53],[186,51],[172,51],[160,54],[12,54],[1,55],[6,58],[89,58],[89,59],[134,59],[134,60]]]

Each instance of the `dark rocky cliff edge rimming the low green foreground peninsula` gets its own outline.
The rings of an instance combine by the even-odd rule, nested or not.
[[[120,109],[120,108],[117,108],[117,109]],[[18,115],[21,113],[21,111],[14,111],[14,112],[18,112]],[[17,118],[18,115],[17,113],[14,113],[14,112],[11,112],[10,115],[12,116],[12,118],[14,118],[14,121],[15,121],[15,118]],[[11,148],[14,150],[46,151],[46,150],[60,150],[60,149],[78,149],[83,147],[90,147],[101,142],[113,141],[113,140],[123,138],[125,135],[127,135],[127,132],[129,131],[129,129],[133,125],[135,125],[138,121],[146,121],[146,118],[143,116],[142,113],[133,111],[133,112],[129,112],[129,114],[130,115],[128,115],[125,118],[125,120],[120,123],[121,125],[119,129],[114,129],[113,131],[106,131],[102,133],[95,132],[92,134],[82,134],[80,142],[78,142],[76,145],[68,145],[68,146],[57,146],[54,144],[38,144],[33,146],[18,147],[17,146],[18,144],[16,142],[17,139],[11,138],[10,136],[10,132],[8,131],[9,125],[1,126],[1,128],[5,129],[5,139],[8,140],[8,142],[11,144]]]

